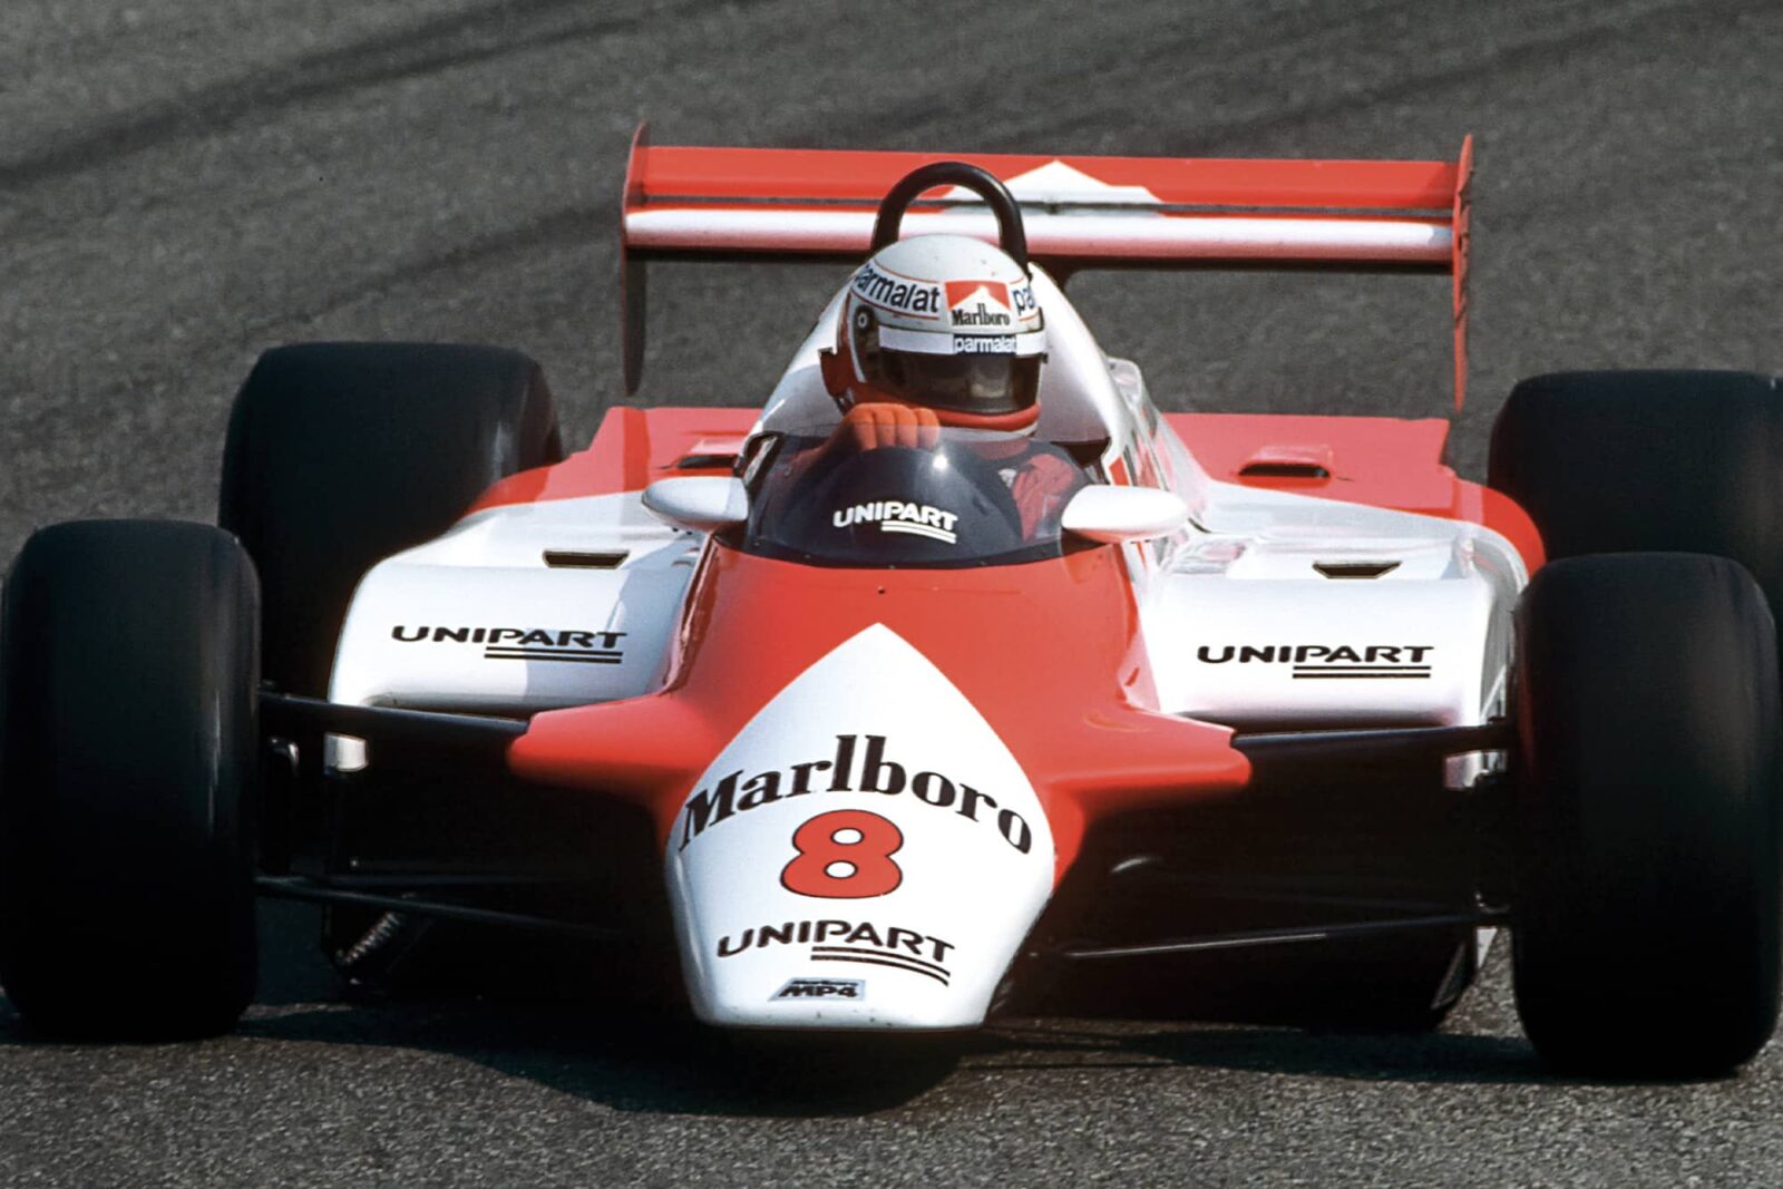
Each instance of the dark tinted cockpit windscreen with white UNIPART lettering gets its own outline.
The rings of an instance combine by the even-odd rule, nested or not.
[[[745,481],[745,553],[940,569],[1059,556],[1059,517],[1088,478],[1048,442],[943,428],[920,446],[777,435],[751,455]]]

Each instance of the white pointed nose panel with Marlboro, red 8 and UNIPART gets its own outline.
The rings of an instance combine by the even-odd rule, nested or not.
[[[884,626],[768,702],[669,838],[695,1013],[711,1023],[981,1023],[1052,891],[1052,831],[1002,740]]]

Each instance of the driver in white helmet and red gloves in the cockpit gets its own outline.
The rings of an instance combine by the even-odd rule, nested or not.
[[[842,408],[836,433],[859,449],[931,449],[941,426],[1013,435],[988,453],[1031,535],[1080,478],[1031,440],[1045,358],[1045,319],[1022,266],[966,235],[915,235],[849,282],[822,371]]]

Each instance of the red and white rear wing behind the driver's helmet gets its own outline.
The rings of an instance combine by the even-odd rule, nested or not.
[[[1448,273],[1462,405],[1473,137],[1453,162],[1216,160],[658,146],[647,125],[619,221],[628,392],[644,369],[647,260],[859,262],[879,200],[936,160],[997,175],[1022,203],[1029,255],[1061,280],[1084,267]],[[997,239],[965,189],[911,205],[902,234],[934,232]]]

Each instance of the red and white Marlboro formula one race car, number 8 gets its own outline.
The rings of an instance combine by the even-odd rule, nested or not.
[[[59,524],[7,576],[0,980],[53,1032],[228,1029],[269,895],[326,906],[353,977],[428,920],[672,954],[722,1027],[972,1029],[1088,970],[1187,995],[1311,950],[1430,1027],[1508,927],[1546,1059],[1747,1061],[1779,988],[1776,383],[1524,381],[1476,485],[1442,421],[1161,414],[1063,291],[1451,273],[1458,403],[1467,176],[640,135],[628,380],[651,258],[859,269],[765,406],[613,408],[563,456],[522,355],[267,351],[221,528]],[[1020,278],[859,266],[931,234]],[[956,380],[1038,307],[1038,421],[850,433],[856,299],[875,349],[950,319]],[[1038,515],[1013,451],[1063,476]]]

